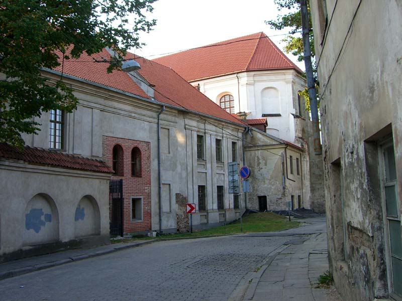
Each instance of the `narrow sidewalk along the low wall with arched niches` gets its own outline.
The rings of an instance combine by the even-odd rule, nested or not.
[[[138,247],[155,240],[137,240],[132,242],[115,243],[86,249],[72,249],[41,256],[23,258],[0,263],[0,280],[30,273],[33,271],[61,265],[73,261],[104,255],[119,250]]]

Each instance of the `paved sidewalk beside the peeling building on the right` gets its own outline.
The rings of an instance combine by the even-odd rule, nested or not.
[[[316,288],[319,275],[326,270],[326,233],[291,238],[288,246],[273,254],[256,273],[244,300],[341,300],[334,290]]]

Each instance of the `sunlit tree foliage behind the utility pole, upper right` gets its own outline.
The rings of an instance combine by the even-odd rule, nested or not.
[[[287,13],[278,15],[276,20],[267,21],[266,24],[276,30],[287,29],[289,31],[289,34],[282,40],[285,43],[284,51],[286,53],[291,53],[292,55],[297,57],[297,61],[302,62],[304,60],[304,54],[302,40],[302,18],[300,17],[300,2],[299,0],[274,0],[274,3],[277,6],[278,10],[280,10],[281,12],[286,11]],[[309,7],[308,10],[310,13]],[[309,25],[314,77],[317,81],[314,36],[311,18],[309,18]],[[317,85],[316,88],[318,88]],[[300,91],[299,95],[304,97],[306,101],[306,110],[310,111],[310,99],[308,89],[306,88],[303,91]]]

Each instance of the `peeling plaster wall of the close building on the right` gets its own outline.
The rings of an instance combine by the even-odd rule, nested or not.
[[[328,246],[345,300],[388,297],[377,142],[391,134],[402,208],[402,3],[311,1],[322,95]]]

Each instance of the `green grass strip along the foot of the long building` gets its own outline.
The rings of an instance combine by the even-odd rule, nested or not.
[[[243,233],[272,232],[298,227],[298,222],[289,222],[287,217],[272,213],[260,212],[251,213],[243,217]],[[180,237],[199,237],[199,236],[219,236],[228,234],[238,234],[240,231],[240,220],[233,223],[191,233],[163,234],[157,238],[180,238]]]

